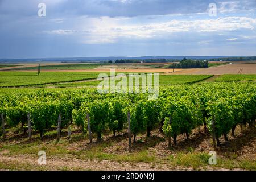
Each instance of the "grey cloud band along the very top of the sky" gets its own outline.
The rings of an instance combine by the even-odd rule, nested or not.
[[[40,0],[1,0],[0,14],[33,16],[38,11]],[[44,0],[47,15],[51,16],[109,16],[134,17],[146,15],[201,14],[207,13],[209,3],[216,2],[218,12],[255,10],[255,0]]]

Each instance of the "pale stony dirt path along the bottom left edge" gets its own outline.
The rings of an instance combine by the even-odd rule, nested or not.
[[[32,167],[39,168],[42,167],[38,164],[38,159],[28,155],[23,156],[3,156],[0,154],[0,163],[7,164],[19,164],[30,165]],[[71,158],[46,158],[46,165],[43,166],[49,170],[61,169],[63,167],[69,169],[82,169],[82,170],[106,170],[106,171],[157,171],[157,170],[193,170],[193,168],[171,168],[167,166],[159,167],[157,164],[152,167],[152,163],[128,163],[128,162],[113,162],[109,160],[81,160],[81,159],[71,159]]]

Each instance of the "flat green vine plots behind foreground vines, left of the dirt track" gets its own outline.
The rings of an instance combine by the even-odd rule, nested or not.
[[[52,86],[56,87],[97,86],[100,81],[88,80],[97,78],[100,73],[104,72],[42,72],[40,75],[35,72],[0,72],[0,86],[44,87],[44,84],[53,84]],[[159,75],[159,85],[192,84],[209,77],[212,75]]]

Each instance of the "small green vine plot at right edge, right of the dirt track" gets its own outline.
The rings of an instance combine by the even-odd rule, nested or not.
[[[256,74],[254,75],[221,75],[215,81],[256,81]]]

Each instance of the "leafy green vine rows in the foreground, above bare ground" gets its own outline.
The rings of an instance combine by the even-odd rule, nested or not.
[[[219,137],[234,130],[237,125],[255,126],[255,84],[197,84],[168,86],[160,89],[157,100],[148,100],[147,94],[98,94],[97,90],[37,90],[30,93],[1,93],[2,124],[6,130],[21,126],[28,130],[28,113],[31,129],[42,138],[52,126],[61,129],[76,125],[81,133],[88,134],[88,121],[97,140],[106,131],[127,129],[127,113],[130,113],[130,130],[133,141],[136,136],[159,128],[176,144],[177,135],[201,125],[209,130],[220,146]],[[89,119],[86,118],[89,115]],[[61,131],[60,129],[60,131]],[[2,130],[4,137],[8,133]]]

